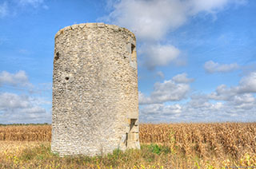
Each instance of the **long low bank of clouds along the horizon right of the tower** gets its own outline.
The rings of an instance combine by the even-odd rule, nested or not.
[[[181,75],[176,77],[181,77]],[[176,78],[173,77],[174,79]],[[142,121],[155,122],[246,122],[255,120],[255,85],[256,72],[251,72],[246,77],[242,77],[237,86],[219,85],[210,94],[193,94],[190,96],[190,100],[183,104],[166,105],[164,102],[162,104],[150,104],[150,102],[146,105],[141,104],[140,118]],[[145,100],[145,97],[143,99],[149,101]],[[177,113],[175,114],[175,112]]]

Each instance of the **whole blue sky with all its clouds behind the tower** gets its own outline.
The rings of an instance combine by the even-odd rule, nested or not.
[[[0,123],[50,123],[54,35],[137,37],[141,122],[256,121],[254,0],[0,0]]]

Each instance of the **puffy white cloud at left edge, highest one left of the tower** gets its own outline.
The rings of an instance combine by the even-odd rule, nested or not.
[[[23,70],[18,71],[18,73],[8,73],[6,71],[2,71],[0,73],[0,86],[1,85],[21,85],[32,87],[30,84],[28,77],[26,76],[26,72]]]

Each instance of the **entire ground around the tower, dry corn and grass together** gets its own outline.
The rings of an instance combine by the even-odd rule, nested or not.
[[[45,133],[51,136],[50,125],[0,127],[0,168],[224,169],[256,166],[256,123],[141,124],[141,150],[116,149],[108,155],[95,157],[60,157],[52,153],[50,140],[40,141],[44,134],[37,132],[38,127],[44,127]]]

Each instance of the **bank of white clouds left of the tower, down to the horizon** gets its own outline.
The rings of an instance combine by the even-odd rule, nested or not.
[[[50,91],[47,88],[49,85],[42,84],[36,88],[37,92],[31,92],[34,85],[30,84],[25,71],[21,70],[18,73],[2,71],[0,73],[0,124],[50,123],[51,102],[50,94],[47,93]],[[1,92],[10,86],[13,92]],[[43,92],[38,93],[38,91]],[[42,97],[44,95],[46,97]]]

